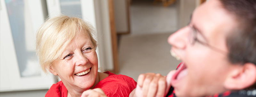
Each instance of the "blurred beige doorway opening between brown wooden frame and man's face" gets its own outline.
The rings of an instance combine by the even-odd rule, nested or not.
[[[178,29],[176,4],[165,7],[154,0],[132,0],[131,32],[119,35],[119,74],[136,81],[141,73],[167,75],[176,68],[179,61],[172,58],[167,43],[168,36]]]

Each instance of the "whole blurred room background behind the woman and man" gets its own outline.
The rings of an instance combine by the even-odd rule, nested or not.
[[[47,17],[89,21],[97,32],[99,72],[167,75],[180,61],[167,38],[205,0],[1,0],[0,97],[44,97],[60,79],[42,72],[35,35]]]

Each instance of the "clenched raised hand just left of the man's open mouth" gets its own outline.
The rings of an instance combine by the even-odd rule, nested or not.
[[[130,97],[164,97],[171,87],[171,78],[175,71],[169,72],[167,77],[159,73],[140,74],[137,86],[130,94]]]

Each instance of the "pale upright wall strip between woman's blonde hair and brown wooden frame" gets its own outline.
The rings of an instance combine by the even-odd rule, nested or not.
[[[94,0],[96,30],[99,44],[99,64],[105,70],[113,70],[113,52],[110,31],[108,0]]]

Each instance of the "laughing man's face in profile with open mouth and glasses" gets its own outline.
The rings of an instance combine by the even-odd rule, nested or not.
[[[168,38],[171,52],[183,61],[171,82],[178,97],[227,91],[223,83],[235,65],[228,61],[226,37],[236,26],[234,17],[220,1],[211,0],[194,11],[188,26]],[[196,31],[195,37],[193,31]]]

